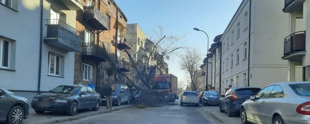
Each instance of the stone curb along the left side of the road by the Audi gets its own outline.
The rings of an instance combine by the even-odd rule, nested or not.
[[[36,124],[55,124],[55,123],[61,123],[61,122],[68,122],[68,121],[73,121],[73,120],[77,120],[80,118],[85,118],[88,116],[92,116],[92,115],[97,115],[97,114],[103,114],[103,113],[108,113],[108,112],[113,112],[113,111],[117,111],[120,109],[124,109],[124,108],[130,108],[133,105],[128,105],[128,106],[122,106],[120,108],[116,108],[116,109],[110,109],[110,110],[103,110],[103,111],[96,111],[94,113],[87,113],[87,114],[83,114],[83,115],[78,115],[78,116],[70,116],[68,118],[62,118],[62,119],[56,119],[56,120],[52,120],[52,121],[47,121],[47,122],[40,122],[40,123],[36,123]]]

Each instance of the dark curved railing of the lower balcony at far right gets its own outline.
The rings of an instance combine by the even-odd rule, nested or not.
[[[284,53],[283,55],[290,55],[295,52],[306,50],[306,31],[292,33],[290,36],[284,38]]]

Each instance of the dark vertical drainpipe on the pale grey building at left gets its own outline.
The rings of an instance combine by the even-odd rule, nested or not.
[[[42,37],[43,37],[43,0],[41,2],[41,20],[40,20],[40,53],[39,53],[39,76],[38,76],[38,92],[41,94],[41,66],[42,66]]]

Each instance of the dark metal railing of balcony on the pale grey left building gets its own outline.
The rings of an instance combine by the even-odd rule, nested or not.
[[[80,36],[79,32],[76,29],[64,23],[60,19],[47,19],[47,36],[44,42],[59,43],[59,39],[69,45],[79,47]]]

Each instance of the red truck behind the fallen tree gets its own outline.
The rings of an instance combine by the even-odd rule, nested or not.
[[[174,101],[178,99],[178,78],[172,74],[154,75],[151,89],[160,99]]]

